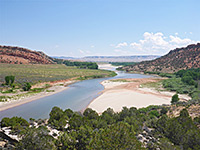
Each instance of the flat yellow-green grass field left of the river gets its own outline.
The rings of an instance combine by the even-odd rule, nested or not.
[[[105,70],[78,69],[65,65],[23,65],[23,64],[0,64],[0,83],[5,82],[5,76],[15,76],[16,84],[64,80],[73,77],[98,78],[114,76],[114,72]]]

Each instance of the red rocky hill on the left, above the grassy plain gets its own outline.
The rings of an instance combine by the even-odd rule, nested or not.
[[[54,61],[43,52],[31,51],[20,47],[0,46],[0,63],[54,64]]]

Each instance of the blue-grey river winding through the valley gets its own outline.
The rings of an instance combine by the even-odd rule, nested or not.
[[[152,76],[117,72],[117,76],[115,77],[84,80],[69,85],[70,88],[60,93],[1,111],[0,119],[13,116],[23,117],[27,120],[29,118],[44,119],[49,117],[49,113],[54,106],[58,106],[63,110],[70,108],[73,111],[81,111],[104,90],[100,82],[107,79],[149,77]]]

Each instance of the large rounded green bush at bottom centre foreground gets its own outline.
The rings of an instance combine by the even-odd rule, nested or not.
[[[92,136],[88,149],[144,149],[131,125],[119,122]]]

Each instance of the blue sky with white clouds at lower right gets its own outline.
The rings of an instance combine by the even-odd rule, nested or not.
[[[0,45],[50,56],[163,55],[200,41],[199,0],[0,0]]]

